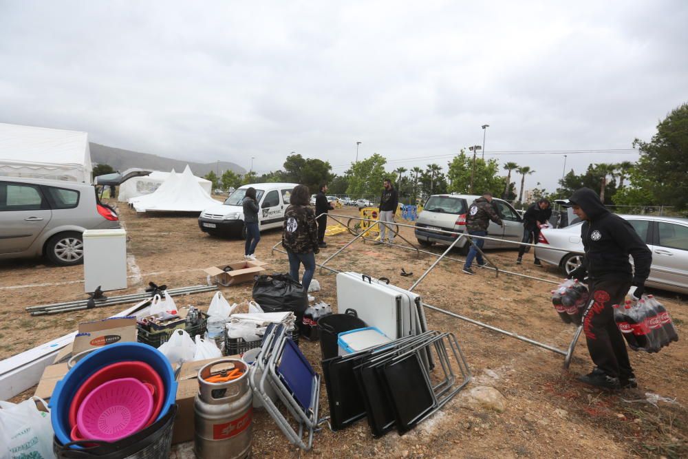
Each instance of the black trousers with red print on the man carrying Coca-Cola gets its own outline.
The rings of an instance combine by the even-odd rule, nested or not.
[[[614,322],[614,304],[623,304],[631,281],[594,279],[590,281],[590,300],[583,314],[583,332],[590,357],[600,370],[614,378],[633,375],[626,342]]]

